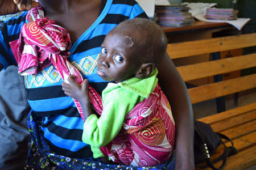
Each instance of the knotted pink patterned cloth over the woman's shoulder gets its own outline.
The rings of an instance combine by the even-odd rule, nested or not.
[[[68,83],[68,76],[75,75],[76,82],[81,84],[83,82],[82,75],[67,59],[71,48],[68,31],[56,25],[53,20],[44,17],[41,6],[28,11],[27,20],[29,23],[24,23],[22,26],[19,39],[10,42],[19,66],[19,74],[37,74],[46,67],[53,65],[64,82]],[[94,100],[92,102],[99,102],[100,96],[92,87],[89,87],[89,96],[90,99]],[[79,101],[73,100],[84,120]]]

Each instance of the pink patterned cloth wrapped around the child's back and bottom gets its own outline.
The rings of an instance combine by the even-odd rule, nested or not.
[[[127,114],[117,137],[100,150],[113,162],[154,166],[169,158],[174,142],[175,124],[171,107],[157,85],[147,99]]]

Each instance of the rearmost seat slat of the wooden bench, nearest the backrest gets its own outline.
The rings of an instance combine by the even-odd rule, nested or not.
[[[243,114],[249,111],[255,111],[256,110],[256,102],[252,104],[247,104],[242,107],[238,107],[235,109],[230,109],[229,111],[213,114],[211,116],[199,118],[198,120],[201,122],[205,122],[206,124],[213,124],[215,122],[220,122],[222,120],[228,119],[230,117],[234,117],[238,114]]]

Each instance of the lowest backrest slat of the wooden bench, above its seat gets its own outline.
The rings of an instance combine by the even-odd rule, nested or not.
[[[256,74],[242,76],[225,80],[218,83],[207,84],[205,86],[189,88],[191,103],[199,103],[216,97],[234,94],[236,92],[249,90],[256,87]]]

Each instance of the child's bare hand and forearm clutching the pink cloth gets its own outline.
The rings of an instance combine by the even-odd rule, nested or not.
[[[76,82],[75,76],[71,75],[68,77],[68,82],[70,84],[62,83],[62,90],[66,95],[80,102],[82,112],[84,113],[84,120],[86,120],[86,118],[93,114],[88,96],[88,79],[85,79],[82,84],[79,84]]]

